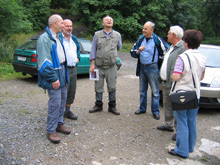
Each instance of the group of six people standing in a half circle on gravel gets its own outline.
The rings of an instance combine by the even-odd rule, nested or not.
[[[116,108],[116,82],[118,50],[122,47],[119,32],[112,29],[113,19],[103,18],[103,29],[95,32],[90,53],[90,72],[99,70],[99,80],[95,81],[95,105],[89,113],[103,111],[104,80],[108,89],[108,111],[120,115]],[[153,118],[160,119],[159,82],[162,84],[163,107],[165,123],[158,130],[173,132],[176,148],[169,154],[188,157],[194,151],[196,142],[196,114],[198,109],[174,111],[170,101],[170,90],[174,81],[176,89],[188,88],[191,85],[191,74],[184,56],[187,53],[192,64],[192,73],[196,80],[196,93],[200,97],[200,83],[205,72],[206,58],[199,54],[197,48],[202,41],[202,33],[196,30],[183,31],[180,26],[171,26],[168,31],[169,46],[154,33],[153,22],[146,22],[143,35],[132,47],[130,54],[137,58],[136,75],[140,83],[140,106],[136,115],[146,113],[148,84],[151,88],[151,112]],[[182,38],[184,37],[184,41]],[[161,65],[161,57],[164,56]],[[63,116],[76,120],[70,111],[76,91],[77,63],[80,60],[80,46],[77,38],[72,35],[72,22],[64,20],[59,15],[52,15],[48,20],[46,32],[40,36],[37,43],[38,85],[48,91],[47,137],[53,143],[59,143],[56,132],[69,134],[70,129],[64,126]],[[69,84],[69,85],[67,85]],[[175,91],[174,91],[175,92]],[[65,112],[64,112],[65,110]]]

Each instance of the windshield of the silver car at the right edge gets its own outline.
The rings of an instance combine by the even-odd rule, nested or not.
[[[206,56],[207,67],[220,68],[220,49],[199,47],[199,52]]]

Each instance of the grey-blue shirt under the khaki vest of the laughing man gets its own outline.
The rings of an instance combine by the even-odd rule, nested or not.
[[[109,37],[111,34],[112,34],[112,31],[110,33],[106,33],[104,30],[103,30],[104,34]],[[118,41],[118,45],[117,45],[117,49],[120,50],[122,47],[122,40],[121,40],[121,35],[120,35],[120,38],[119,38],[119,41]],[[93,36],[93,40],[92,40],[92,48],[91,48],[91,52],[90,52],[90,58],[89,60],[94,60],[95,57],[96,57],[96,48],[97,48],[97,38],[96,36],[94,35]]]

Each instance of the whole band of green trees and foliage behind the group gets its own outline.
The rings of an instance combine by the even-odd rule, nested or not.
[[[169,27],[180,25],[202,31],[203,43],[220,45],[219,11],[220,0],[0,0],[0,72],[8,72],[14,49],[44,30],[53,13],[74,18],[74,27],[87,29],[80,37],[89,40],[110,15],[122,35],[122,51],[129,52],[148,20],[165,40]]]

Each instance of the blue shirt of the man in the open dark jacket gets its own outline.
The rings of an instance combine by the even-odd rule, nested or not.
[[[155,57],[153,60],[154,47],[155,47],[153,36],[151,36],[148,41],[147,39],[144,39],[141,43],[141,46],[145,46],[145,49],[140,53],[141,64],[147,65],[147,64],[157,63],[158,62],[158,50],[157,49],[155,50]]]

